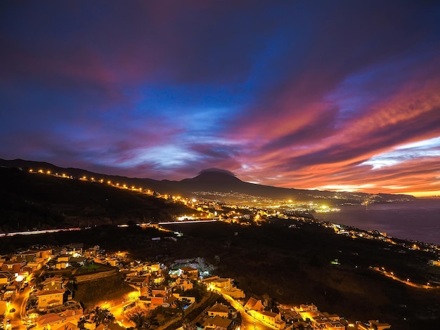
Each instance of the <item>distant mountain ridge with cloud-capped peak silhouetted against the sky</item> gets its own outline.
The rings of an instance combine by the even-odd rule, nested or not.
[[[308,201],[311,199],[332,199],[335,204],[339,202],[388,202],[396,200],[410,200],[415,197],[408,194],[368,194],[365,192],[332,192],[329,190],[305,190],[296,188],[273,187],[247,183],[240,180],[234,173],[224,169],[204,169],[194,178],[182,180],[155,180],[150,178],[129,178],[125,176],[111,176],[103,173],[94,173],[84,169],[63,168],[47,162],[27,161],[24,159],[6,160],[0,159],[0,166],[17,167],[38,171],[51,171],[51,173],[66,173],[76,178],[94,177],[95,180],[104,182],[126,184],[128,186],[143,186],[145,189],[160,192],[160,194],[180,194],[183,196],[193,195],[194,192],[237,192],[252,196],[266,197],[271,199],[295,199],[297,201]],[[200,194],[199,194],[200,195]]]

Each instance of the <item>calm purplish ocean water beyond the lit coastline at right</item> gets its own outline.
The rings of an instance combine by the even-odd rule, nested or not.
[[[315,218],[440,245],[440,198],[368,206],[347,205],[340,206],[340,209],[335,213],[316,213]]]

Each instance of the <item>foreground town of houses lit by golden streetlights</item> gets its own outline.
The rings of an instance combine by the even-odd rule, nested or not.
[[[351,322],[311,303],[268,306],[264,298],[247,297],[233,279],[202,272],[191,260],[149,263],[76,243],[34,246],[1,256],[0,264],[0,313],[7,330],[391,328],[374,319]],[[77,300],[79,285],[115,277],[126,288],[121,296],[104,295],[86,306]]]

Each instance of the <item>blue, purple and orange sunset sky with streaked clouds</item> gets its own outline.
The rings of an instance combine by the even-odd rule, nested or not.
[[[2,1],[0,158],[440,194],[438,1]]]

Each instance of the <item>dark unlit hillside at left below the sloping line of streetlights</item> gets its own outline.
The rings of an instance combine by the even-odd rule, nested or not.
[[[101,183],[0,168],[1,230],[157,222],[189,213],[181,204]]]

